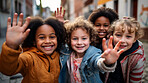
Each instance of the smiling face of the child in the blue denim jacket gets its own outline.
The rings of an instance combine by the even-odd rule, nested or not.
[[[86,30],[78,28],[71,33],[71,47],[77,54],[84,54],[89,44],[90,38]]]

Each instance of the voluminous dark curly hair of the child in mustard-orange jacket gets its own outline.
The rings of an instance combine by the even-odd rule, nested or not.
[[[64,27],[64,24],[62,22],[58,21],[54,17],[49,17],[46,20],[43,20],[40,17],[31,18],[31,21],[27,27],[27,29],[30,29],[30,33],[22,44],[23,48],[35,47],[34,42],[36,41],[35,40],[36,31],[40,26],[42,26],[44,24],[52,26],[53,29],[55,30],[55,33],[57,36],[57,42],[58,42],[58,46],[56,48],[56,51],[60,50],[61,46],[63,44],[65,44],[66,29]]]

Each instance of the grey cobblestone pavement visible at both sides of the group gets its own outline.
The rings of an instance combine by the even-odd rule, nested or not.
[[[0,52],[1,52],[1,46],[5,40],[6,40],[5,38],[0,38]],[[148,83],[148,41],[147,42],[142,41],[142,42],[144,46],[144,54],[146,57],[142,83]],[[20,74],[10,77],[0,73],[0,83],[21,83],[21,80],[22,80],[22,77]]]

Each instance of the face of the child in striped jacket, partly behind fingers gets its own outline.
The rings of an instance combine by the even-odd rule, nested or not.
[[[116,28],[113,33],[113,38],[114,38],[114,45],[116,45],[119,40],[122,41],[121,45],[119,47],[119,50],[124,49],[124,51],[127,51],[128,49],[130,49],[132,47],[133,43],[136,41],[135,30],[133,30],[134,32],[129,33],[127,27],[124,29],[125,29],[125,31],[123,32],[121,27]]]

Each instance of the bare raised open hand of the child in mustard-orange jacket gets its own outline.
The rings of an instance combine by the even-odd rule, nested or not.
[[[6,45],[12,49],[17,49],[30,32],[30,29],[26,30],[30,22],[30,17],[28,17],[26,19],[26,22],[23,24],[23,13],[20,14],[18,23],[17,16],[18,14],[15,13],[12,26],[10,17],[7,21]]]

